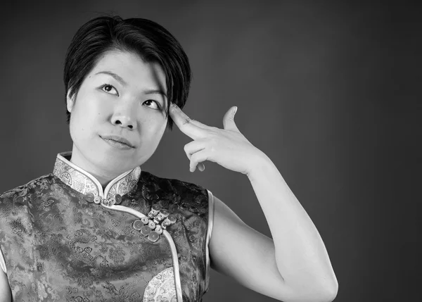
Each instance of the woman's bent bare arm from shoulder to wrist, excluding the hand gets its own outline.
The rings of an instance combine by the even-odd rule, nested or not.
[[[338,283],[316,227],[269,158],[256,163],[248,177],[274,241],[215,198],[212,268],[281,301],[333,301]]]

